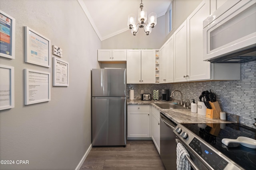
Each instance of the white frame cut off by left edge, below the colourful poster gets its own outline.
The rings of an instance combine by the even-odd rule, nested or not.
[[[14,67],[0,64],[0,110],[14,107]]]

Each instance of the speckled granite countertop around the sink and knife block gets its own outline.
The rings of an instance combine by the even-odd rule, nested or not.
[[[161,109],[154,103],[162,101],[142,101],[142,100],[127,100],[127,105],[151,105],[162,112],[166,117],[175,123],[234,123],[232,121],[223,121],[221,119],[210,119],[198,113],[192,113],[190,109]],[[163,102],[166,103],[166,102]],[[172,103],[172,102],[170,102]]]

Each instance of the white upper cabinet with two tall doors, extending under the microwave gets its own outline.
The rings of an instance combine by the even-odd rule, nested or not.
[[[174,82],[240,80],[239,63],[203,61],[202,23],[210,15],[209,3],[204,0],[174,32]]]

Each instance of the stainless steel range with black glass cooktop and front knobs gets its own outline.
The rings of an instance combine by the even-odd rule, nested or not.
[[[256,149],[231,143],[223,138],[239,136],[256,139],[256,130],[234,123],[178,124],[174,129],[176,143],[180,142],[190,154],[190,165],[199,170],[252,170],[256,167]]]

